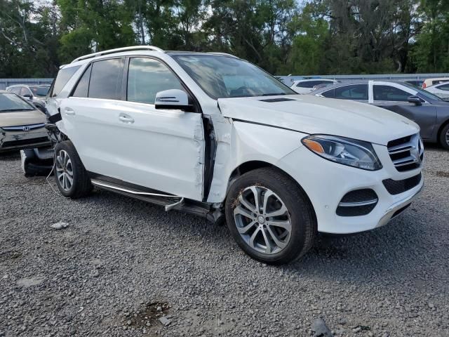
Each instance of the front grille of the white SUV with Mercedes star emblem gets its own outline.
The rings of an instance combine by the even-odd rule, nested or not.
[[[419,133],[391,140],[387,147],[391,161],[399,172],[414,170],[421,166],[424,147]]]

